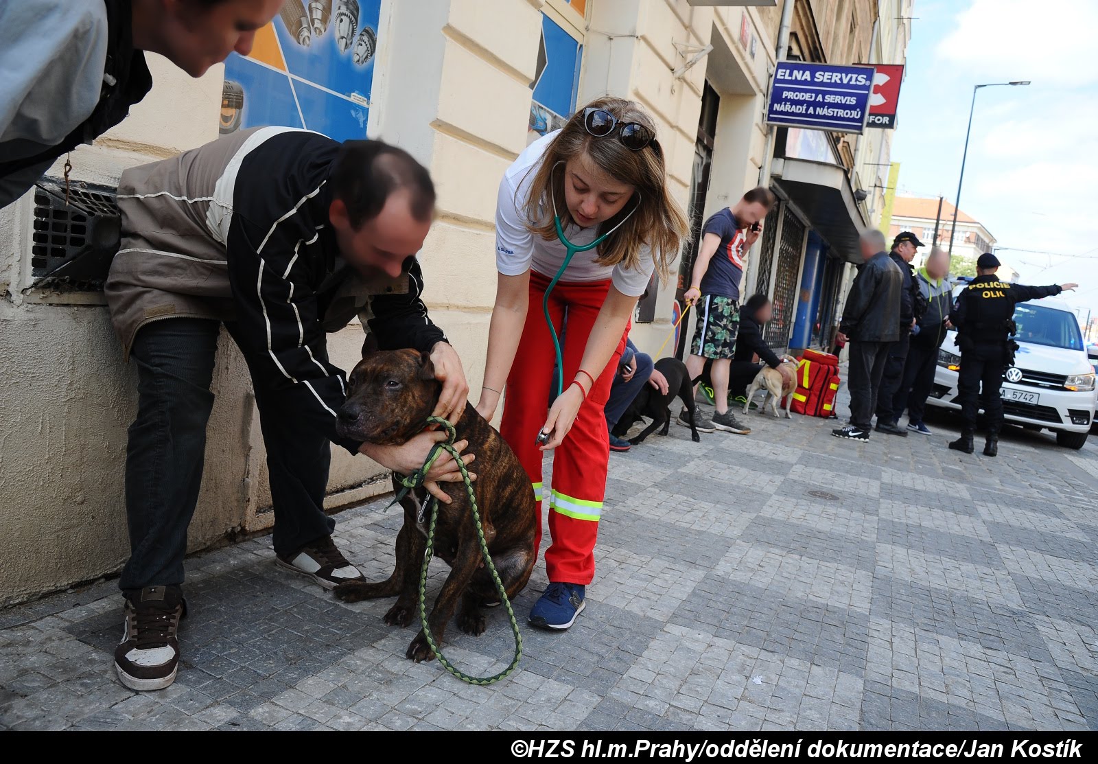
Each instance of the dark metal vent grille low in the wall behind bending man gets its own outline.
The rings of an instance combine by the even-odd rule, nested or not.
[[[100,289],[119,250],[114,189],[43,178],[34,190],[31,273],[77,289]],[[38,285],[36,283],[35,285]]]

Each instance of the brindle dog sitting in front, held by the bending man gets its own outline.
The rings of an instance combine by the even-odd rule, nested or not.
[[[399,446],[418,435],[438,402],[439,383],[427,353],[415,350],[368,353],[351,373],[347,403],[339,409],[336,426],[341,437],[371,443]],[[530,577],[537,504],[534,486],[511,447],[492,425],[469,403],[456,426],[457,440],[468,440],[469,453],[477,456],[473,493],[480,509],[484,539],[500,580],[514,597]],[[452,502],[438,504],[435,527],[435,557],[450,565],[428,621],[438,643],[460,600],[458,628],[466,633],[484,631],[481,608],[500,602],[488,569],[482,565],[477,527],[463,483],[441,483]],[[393,490],[401,485],[393,480]],[[396,568],[388,581],[339,584],[335,595],[354,603],[360,599],[396,596],[385,614],[385,622],[407,626],[418,621],[419,571],[427,546],[426,488],[413,488],[401,499],[404,526],[396,536]],[[407,658],[429,661],[434,652],[421,631],[408,645]]]

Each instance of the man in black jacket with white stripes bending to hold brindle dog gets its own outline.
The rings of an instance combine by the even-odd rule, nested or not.
[[[328,359],[326,333],[357,316],[382,350],[421,351],[424,372],[441,382],[439,416],[460,417],[469,387],[421,299],[415,255],[435,188],[407,153],[287,127],[238,131],[126,170],[117,199],[122,248],[104,292],[137,369],[138,401],[125,474],[131,557],[119,582],[125,631],[114,662],[125,686],[149,690],[176,678],[187,528],[222,324],[251,372],[277,563],[325,588],[361,575],[324,512],[330,443],[410,473],[445,435],[404,446],[341,438],[336,417],[352,383]],[[448,456],[432,473],[460,479]]]

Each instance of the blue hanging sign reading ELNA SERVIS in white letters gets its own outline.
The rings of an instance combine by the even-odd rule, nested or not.
[[[870,111],[873,67],[778,61],[770,87],[772,125],[861,133]]]

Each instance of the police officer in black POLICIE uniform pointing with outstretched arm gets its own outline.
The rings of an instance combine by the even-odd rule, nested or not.
[[[984,456],[999,452],[999,428],[1002,427],[1002,398],[999,387],[1002,372],[1013,363],[1018,346],[1009,336],[1013,333],[1015,305],[1029,300],[1060,294],[1078,284],[1023,286],[999,281],[995,271],[999,259],[984,252],[976,260],[976,278],[957,295],[950,312],[950,322],[957,327],[961,349],[961,371],[957,387],[961,398],[961,437],[950,443],[955,451],[973,452],[976,431],[977,394],[983,386],[984,413],[987,415],[987,441]]]

